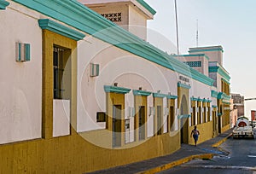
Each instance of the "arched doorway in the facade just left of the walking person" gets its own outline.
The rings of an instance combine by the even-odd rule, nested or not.
[[[180,104],[180,142],[188,143],[189,142],[189,110],[188,110],[188,101],[186,96],[183,95],[182,101]]]

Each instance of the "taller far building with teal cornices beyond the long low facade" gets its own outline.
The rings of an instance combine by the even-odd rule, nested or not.
[[[189,55],[176,56],[179,61],[213,79],[212,96],[217,102],[218,117],[213,117],[213,135],[230,128],[230,73],[223,67],[223,47],[189,48]],[[212,97],[214,98],[214,97]]]

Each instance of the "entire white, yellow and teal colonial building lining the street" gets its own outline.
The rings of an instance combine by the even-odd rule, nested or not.
[[[221,46],[148,44],[143,0],[0,0],[1,173],[83,173],[230,126]]]

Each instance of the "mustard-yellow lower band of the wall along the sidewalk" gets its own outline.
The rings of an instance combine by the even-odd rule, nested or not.
[[[96,135],[96,132],[84,134]],[[98,136],[101,132],[97,131]],[[172,154],[179,135],[153,136],[134,148],[97,147],[82,136],[61,136],[0,146],[1,173],[83,173]]]

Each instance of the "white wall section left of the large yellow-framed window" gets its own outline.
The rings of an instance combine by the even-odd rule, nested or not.
[[[33,15],[13,2],[0,10],[0,143],[41,137],[42,30]],[[31,44],[31,61],[15,61],[15,42]]]

